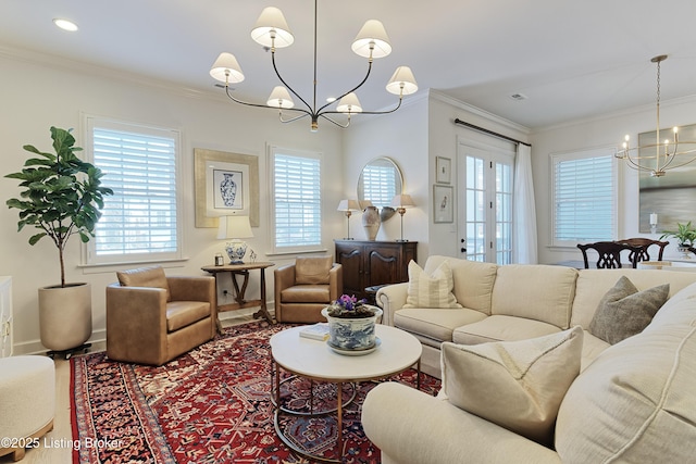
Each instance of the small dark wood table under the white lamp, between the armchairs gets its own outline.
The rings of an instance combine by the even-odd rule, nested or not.
[[[253,313],[253,317],[264,317],[270,324],[273,324],[273,317],[269,313],[269,309],[265,304],[265,268],[274,266],[275,263],[271,262],[258,262],[258,263],[243,263],[243,264],[225,264],[223,266],[203,266],[201,269],[212,274],[215,277],[215,289],[217,288],[217,275],[220,273],[229,273],[232,276],[232,284],[235,287],[235,302],[228,304],[219,304],[217,313],[224,313],[225,311],[235,311],[243,308],[260,306],[260,310]],[[261,273],[261,280],[259,281],[260,298],[258,300],[246,300],[244,294],[247,291],[249,285],[249,271],[259,269]],[[237,276],[243,276],[241,287],[237,281]],[[220,318],[217,318],[217,331],[222,331],[222,325]]]

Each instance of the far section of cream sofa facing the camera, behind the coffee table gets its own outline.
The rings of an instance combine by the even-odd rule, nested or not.
[[[423,344],[421,368],[440,377],[443,341],[474,344],[486,341],[524,340],[580,325],[585,329],[583,363],[609,343],[586,330],[604,294],[621,275],[638,290],[670,284],[670,297],[696,283],[696,273],[657,269],[581,269],[552,265],[499,266],[492,263],[433,255],[424,271],[432,274],[444,261],[452,272],[452,293],[462,309],[403,309],[408,283],[383,287],[376,301],[384,311],[383,324],[413,334]]]

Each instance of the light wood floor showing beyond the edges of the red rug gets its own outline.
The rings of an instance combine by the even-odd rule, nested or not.
[[[251,315],[241,315],[234,318],[223,319],[223,327],[245,324],[254,321]],[[105,350],[101,343],[94,344],[90,352]],[[73,449],[71,447],[73,432],[71,427],[70,410],[70,361],[54,360],[55,363],[55,418],[53,419],[53,430],[46,434],[39,440],[39,447],[27,449],[22,464],[70,464],[72,463]],[[12,463],[12,455],[0,457],[0,464]]]

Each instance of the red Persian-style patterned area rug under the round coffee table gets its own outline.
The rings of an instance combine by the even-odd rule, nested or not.
[[[110,361],[105,352],[72,358],[73,440],[96,443],[76,449],[73,462],[309,462],[278,439],[274,426],[269,340],[287,327],[265,322],[229,327],[161,367]],[[415,371],[390,380],[414,387]],[[309,401],[301,383],[288,380],[282,389],[300,407]],[[359,384],[356,401],[344,411],[344,463],[380,462],[360,424],[362,400],[374,385]],[[439,380],[422,375],[421,390],[438,389]],[[314,404],[331,407],[334,399],[335,406],[335,397],[333,385],[314,383]],[[335,415],[281,421],[278,427],[312,454],[337,452]]]

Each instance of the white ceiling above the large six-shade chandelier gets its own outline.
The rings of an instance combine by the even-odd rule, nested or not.
[[[278,68],[311,98],[311,0],[2,0],[0,47],[216,92],[208,71],[229,51],[247,76],[236,95],[263,102],[277,79],[270,53],[249,32],[266,5],[281,8],[295,34],[295,43],[276,53]],[[58,29],[54,17],[75,21],[79,30]],[[366,60],[350,43],[364,21],[378,18],[394,50],[375,60],[358,91],[365,110],[393,102],[384,86],[407,64],[419,92],[437,89],[540,128],[654,104],[650,58],[658,54],[670,57],[662,63],[662,100],[696,93],[695,17],[694,0],[319,0],[318,97],[362,79]]]

